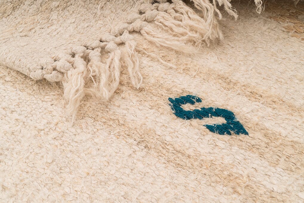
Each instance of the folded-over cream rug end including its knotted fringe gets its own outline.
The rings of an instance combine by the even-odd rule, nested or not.
[[[142,86],[137,40],[131,32],[187,53],[195,52],[189,43],[200,47],[223,39],[216,4],[237,18],[229,0],[193,3],[202,17],[181,0],[2,1],[0,63],[35,80],[62,82],[74,120],[85,95],[111,97],[122,65],[133,87]]]

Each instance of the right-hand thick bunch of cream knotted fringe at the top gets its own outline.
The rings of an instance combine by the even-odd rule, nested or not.
[[[192,0],[196,8],[202,11],[203,17],[197,15],[181,0],[166,0],[160,3],[145,3],[137,13],[127,17],[126,23],[112,31],[115,36],[125,30],[139,32],[148,41],[171,49],[191,53],[195,46],[209,45],[210,40],[222,39],[223,34],[215,13],[221,18],[219,10],[209,0]],[[217,0],[219,5],[237,18],[236,11],[231,7],[229,0]]]

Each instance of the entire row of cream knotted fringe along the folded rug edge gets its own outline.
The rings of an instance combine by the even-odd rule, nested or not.
[[[143,78],[139,70],[136,41],[129,32],[139,32],[148,41],[173,50],[191,53],[193,46],[209,45],[210,40],[222,39],[216,14],[216,7],[223,5],[226,11],[237,18],[230,0],[192,0],[202,17],[197,15],[181,0],[159,0],[159,3],[142,4],[139,10],[127,16],[126,22],[116,26],[112,33],[104,34],[99,41],[75,47],[70,54],[53,57],[53,64],[45,62],[42,72],[38,70],[31,77],[39,78],[42,73],[49,81],[64,84],[64,96],[68,100],[67,110],[74,121],[76,111],[85,95],[109,99],[119,85],[121,64],[128,68],[130,80],[135,88],[140,88]],[[255,0],[261,9],[261,0]],[[124,44],[124,48],[119,47]],[[190,45],[192,44],[192,45]],[[144,51],[145,52],[145,51]],[[107,55],[106,61],[104,59]],[[151,53],[148,53],[153,55]],[[156,56],[162,63],[166,62]],[[64,73],[64,79],[62,74]]]

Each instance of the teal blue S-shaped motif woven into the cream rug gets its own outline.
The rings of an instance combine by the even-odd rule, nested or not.
[[[223,124],[212,124],[212,125],[204,125],[208,130],[211,132],[224,135],[228,134],[231,135],[231,132],[239,135],[244,134],[248,135],[248,132],[245,130],[243,125],[236,119],[233,112],[224,109],[224,108],[201,108],[201,109],[194,109],[193,111],[186,111],[184,110],[181,105],[184,104],[192,104],[194,105],[195,102],[202,102],[202,99],[199,97],[195,97],[192,95],[181,96],[175,99],[168,98],[171,102],[171,109],[179,118],[189,120],[189,119],[204,119],[204,118],[212,118],[212,117],[222,117],[226,120],[226,123]]]

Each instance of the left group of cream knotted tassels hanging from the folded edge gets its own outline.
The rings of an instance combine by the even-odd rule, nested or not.
[[[123,49],[119,48],[120,44],[125,44]],[[70,54],[58,54],[53,60],[57,71],[64,73],[64,97],[68,100],[67,111],[72,121],[85,95],[105,100],[113,95],[119,85],[122,61],[135,88],[140,88],[143,80],[136,42],[127,30],[117,37],[105,33],[99,41],[74,47]]]

